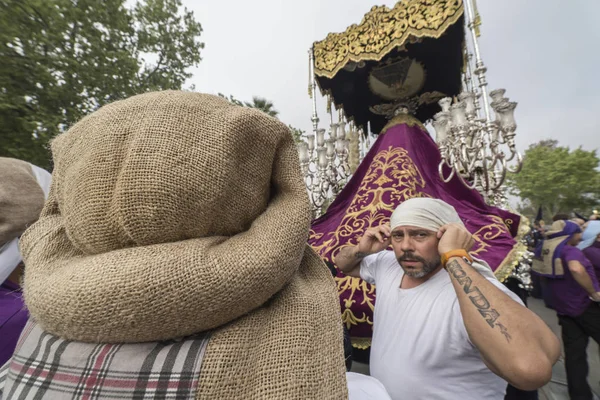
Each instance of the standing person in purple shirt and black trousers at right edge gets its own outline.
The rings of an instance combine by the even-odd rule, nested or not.
[[[562,263],[563,276],[548,282],[562,331],[569,396],[592,400],[587,346],[590,337],[600,344],[600,282],[590,260],[576,247],[582,240],[581,228],[571,221],[557,221],[552,231],[548,237],[564,238],[552,255],[553,263]]]

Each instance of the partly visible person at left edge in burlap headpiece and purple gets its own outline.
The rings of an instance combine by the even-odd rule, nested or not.
[[[19,284],[19,237],[38,219],[50,180],[35,165],[0,157],[0,366],[12,356],[28,318]]]

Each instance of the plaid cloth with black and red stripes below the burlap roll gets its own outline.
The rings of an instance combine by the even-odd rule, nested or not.
[[[0,400],[194,399],[208,341],[72,342],[30,321],[0,369]]]

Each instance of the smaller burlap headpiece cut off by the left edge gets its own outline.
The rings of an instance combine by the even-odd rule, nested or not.
[[[31,165],[0,157],[0,247],[25,232],[43,206],[44,192]]]

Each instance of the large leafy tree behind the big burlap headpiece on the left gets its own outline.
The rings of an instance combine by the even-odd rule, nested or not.
[[[112,101],[181,89],[204,44],[181,0],[0,0],[0,156],[50,166],[48,142]]]

